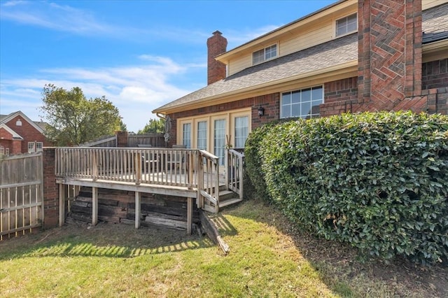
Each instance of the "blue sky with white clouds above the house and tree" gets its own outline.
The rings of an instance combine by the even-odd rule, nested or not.
[[[335,1],[0,0],[0,114],[43,120],[46,83],[105,96],[127,129],[207,85],[207,38],[228,50]]]

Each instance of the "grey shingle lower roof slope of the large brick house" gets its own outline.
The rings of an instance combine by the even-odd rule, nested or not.
[[[448,39],[448,3],[435,6],[422,13],[423,43]],[[301,19],[300,19],[301,20]],[[294,22],[293,22],[294,23]],[[292,23],[290,23],[292,24]],[[180,99],[156,108],[153,113],[163,113],[173,108],[187,106],[235,92],[256,90],[260,85],[306,75],[313,71],[325,71],[332,66],[346,64],[358,59],[358,34],[350,34],[322,43],[293,54],[251,66],[223,80],[212,83]]]

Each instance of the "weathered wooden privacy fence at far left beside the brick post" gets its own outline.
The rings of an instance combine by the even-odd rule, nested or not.
[[[0,159],[0,240],[31,232],[43,222],[41,152]]]

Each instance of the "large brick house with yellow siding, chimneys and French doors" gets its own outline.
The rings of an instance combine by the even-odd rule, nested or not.
[[[338,1],[233,50],[219,31],[207,46],[209,85],[153,113],[169,116],[170,145],[222,163],[226,145],[279,118],[448,113],[445,0]]]

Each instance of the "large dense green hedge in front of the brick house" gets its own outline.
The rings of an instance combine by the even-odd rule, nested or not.
[[[448,261],[447,116],[295,120],[248,145],[254,185],[297,224],[385,259]]]

